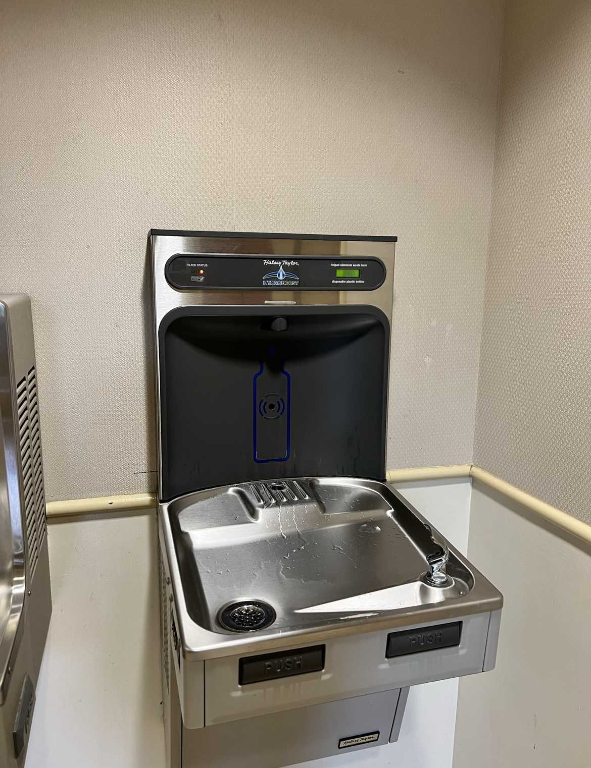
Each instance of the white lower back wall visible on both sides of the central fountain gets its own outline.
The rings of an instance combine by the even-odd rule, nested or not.
[[[397,488],[466,551],[467,478]],[[49,526],[54,612],[27,768],[164,768],[154,534],[152,514]],[[457,680],[414,687],[397,743],[305,765],[451,768],[456,703]]]

